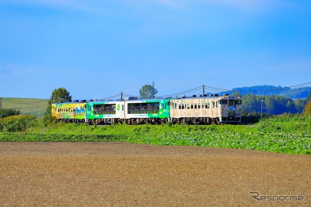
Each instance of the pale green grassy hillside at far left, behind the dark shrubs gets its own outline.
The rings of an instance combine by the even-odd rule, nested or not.
[[[48,106],[47,99],[39,98],[3,98],[2,109],[16,108],[22,114],[32,114],[35,116],[43,116]]]

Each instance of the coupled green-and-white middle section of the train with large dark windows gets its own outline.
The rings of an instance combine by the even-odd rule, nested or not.
[[[170,117],[170,99],[101,100],[86,103],[86,122],[109,123],[162,123]]]

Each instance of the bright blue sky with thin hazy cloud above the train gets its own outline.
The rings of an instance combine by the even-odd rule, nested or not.
[[[0,0],[1,97],[138,95],[152,81],[159,96],[310,82],[311,1]]]

